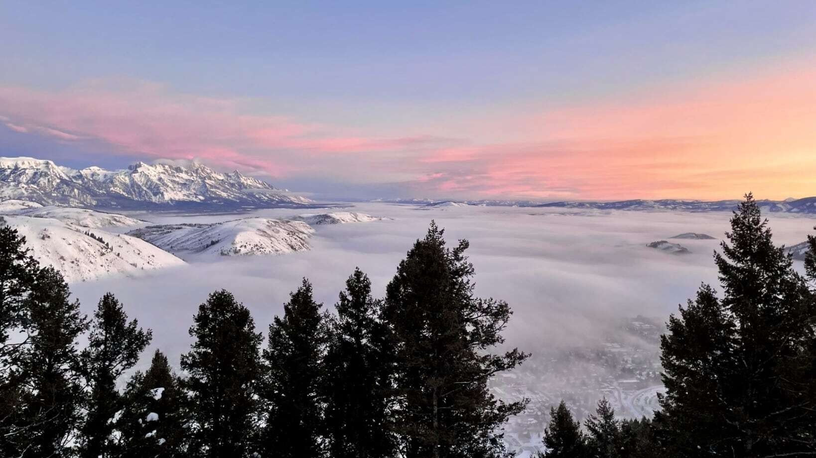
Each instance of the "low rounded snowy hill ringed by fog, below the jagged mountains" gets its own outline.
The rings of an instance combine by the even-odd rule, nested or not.
[[[212,224],[165,224],[129,232],[172,253],[223,256],[304,251],[314,229],[302,221],[243,218]]]

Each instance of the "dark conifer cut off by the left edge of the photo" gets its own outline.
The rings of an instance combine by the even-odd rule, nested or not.
[[[0,218],[2,222],[2,218]],[[0,456],[16,456],[16,443],[24,436],[20,429],[20,368],[12,361],[24,348],[24,341],[9,341],[27,322],[24,302],[33,287],[38,263],[25,248],[25,237],[16,229],[0,227]]]

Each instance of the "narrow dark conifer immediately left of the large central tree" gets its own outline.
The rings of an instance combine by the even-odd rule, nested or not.
[[[360,269],[346,280],[335,305],[326,355],[326,430],[332,458],[392,456],[388,422],[390,360],[381,301]]]

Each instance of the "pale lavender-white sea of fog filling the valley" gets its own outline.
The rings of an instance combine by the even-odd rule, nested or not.
[[[414,241],[436,220],[450,245],[470,241],[477,294],[507,301],[514,315],[505,335],[522,349],[572,346],[600,338],[621,317],[665,320],[693,297],[702,282],[716,283],[712,253],[719,240],[670,240],[690,249],[672,255],[646,247],[682,232],[723,237],[730,214],[579,211],[508,207],[446,207],[384,203],[349,204],[345,210],[391,218],[318,226],[308,252],[265,257],[190,258],[187,266],[140,278],[72,284],[87,313],[105,292],[124,303],[128,315],[153,329],[176,368],[191,341],[188,328],[207,294],[225,288],[249,307],[265,333],[273,315],[303,277],[318,302],[332,308],[344,281],[359,266],[376,296]],[[322,212],[331,210],[309,210]],[[303,212],[300,212],[303,213]],[[291,209],[246,214],[133,214],[155,223],[216,222],[247,216],[286,218]],[[769,215],[777,243],[805,240],[816,219]],[[146,363],[146,361],[143,362]]]

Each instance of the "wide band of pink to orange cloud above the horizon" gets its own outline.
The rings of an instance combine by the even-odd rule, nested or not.
[[[720,198],[752,190],[784,197],[814,192],[813,81],[816,64],[803,64],[614,103],[496,117],[474,129],[509,139],[481,144],[461,129],[446,137],[387,137],[247,114],[241,99],[180,95],[132,81],[55,92],[0,87],[0,119],[21,133],[101,140],[127,155],[401,183],[422,196]]]

